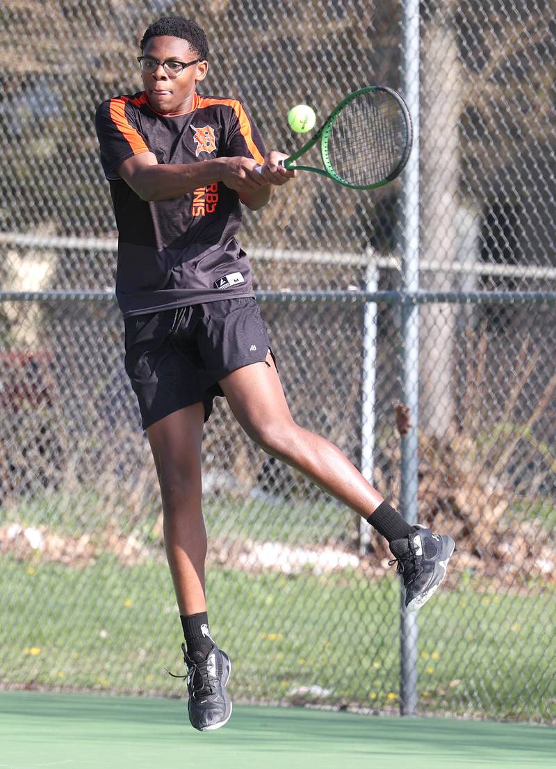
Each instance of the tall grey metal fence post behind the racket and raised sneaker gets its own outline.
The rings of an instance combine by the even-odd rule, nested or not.
[[[404,4],[403,91],[414,123],[414,145],[405,169],[402,213],[402,292],[419,288],[419,0]],[[409,408],[411,428],[401,438],[401,511],[410,524],[418,517],[418,305],[402,299],[402,398]],[[400,618],[400,712],[417,711],[417,621],[405,609]]]

